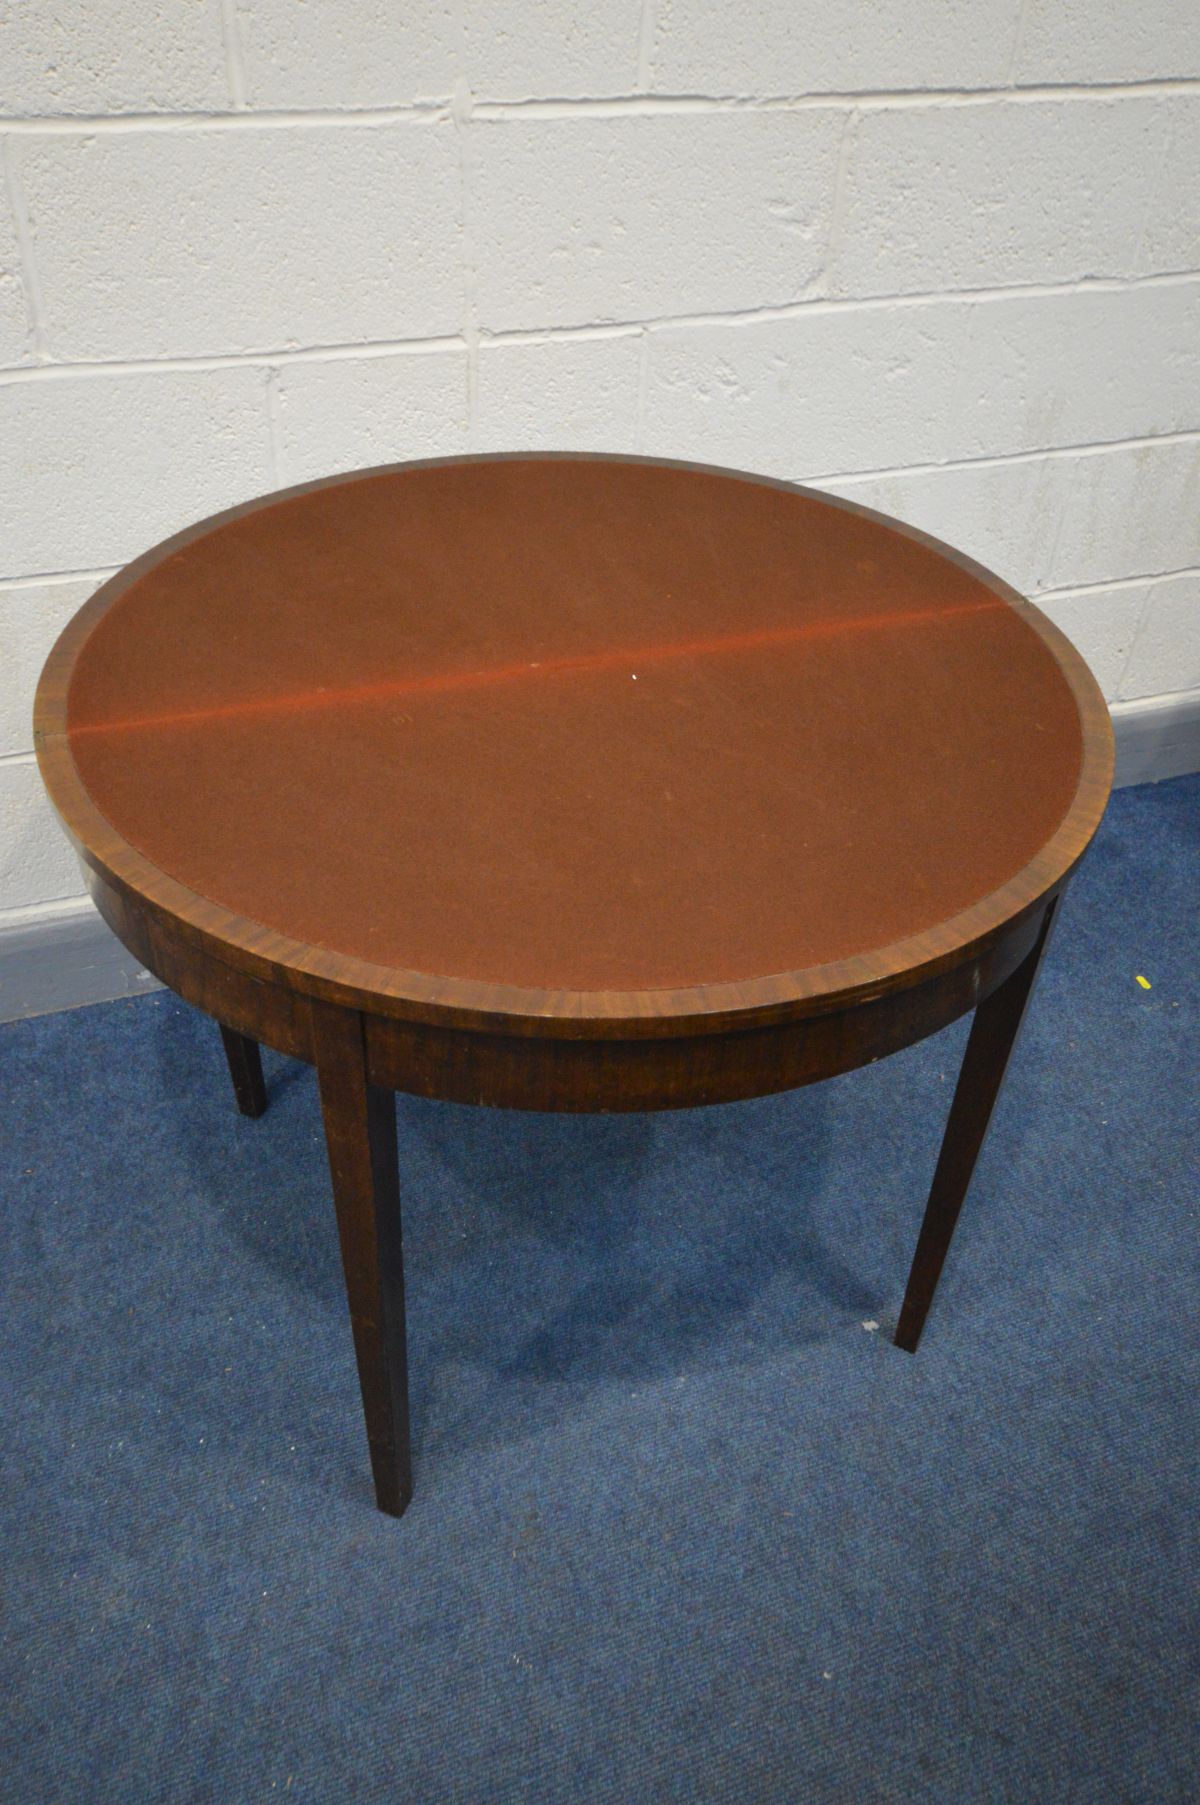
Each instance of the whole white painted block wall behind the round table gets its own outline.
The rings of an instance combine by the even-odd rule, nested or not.
[[[814,480],[1200,690],[1198,251],[1178,0],[0,0],[0,922],[60,625],[334,469]]]

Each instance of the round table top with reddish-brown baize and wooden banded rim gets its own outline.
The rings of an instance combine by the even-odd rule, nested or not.
[[[85,852],[217,939],[577,1018],[866,991],[967,946],[1074,865],[1112,774],[1086,666],[969,560],[606,457],[204,522],[92,597],[38,713]]]

